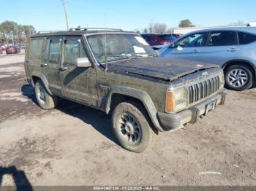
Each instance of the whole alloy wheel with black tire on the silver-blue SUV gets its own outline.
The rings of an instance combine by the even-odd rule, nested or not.
[[[247,66],[233,65],[225,71],[226,87],[242,91],[252,87],[252,71]]]

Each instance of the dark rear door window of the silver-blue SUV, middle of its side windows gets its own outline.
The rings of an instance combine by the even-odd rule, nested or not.
[[[236,32],[233,32],[233,31],[211,32],[207,45],[209,47],[236,45]]]

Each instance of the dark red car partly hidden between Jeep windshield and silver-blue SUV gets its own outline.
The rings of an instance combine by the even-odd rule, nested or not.
[[[154,50],[165,47],[167,44],[176,40],[171,34],[142,34],[141,36],[143,36],[146,42],[148,42]]]

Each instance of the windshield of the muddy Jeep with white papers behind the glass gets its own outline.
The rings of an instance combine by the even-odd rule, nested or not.
[[[135,34],[95,34],[87,36],[98,63],[119,61],[133,56],[157,56],[157,53],[141,37]]]

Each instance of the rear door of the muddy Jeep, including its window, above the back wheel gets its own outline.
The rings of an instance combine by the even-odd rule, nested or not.
[[[45,58],[42,60],[41,67],[48,80],[50,90],[61,95],[61,36],[46,39]]]

